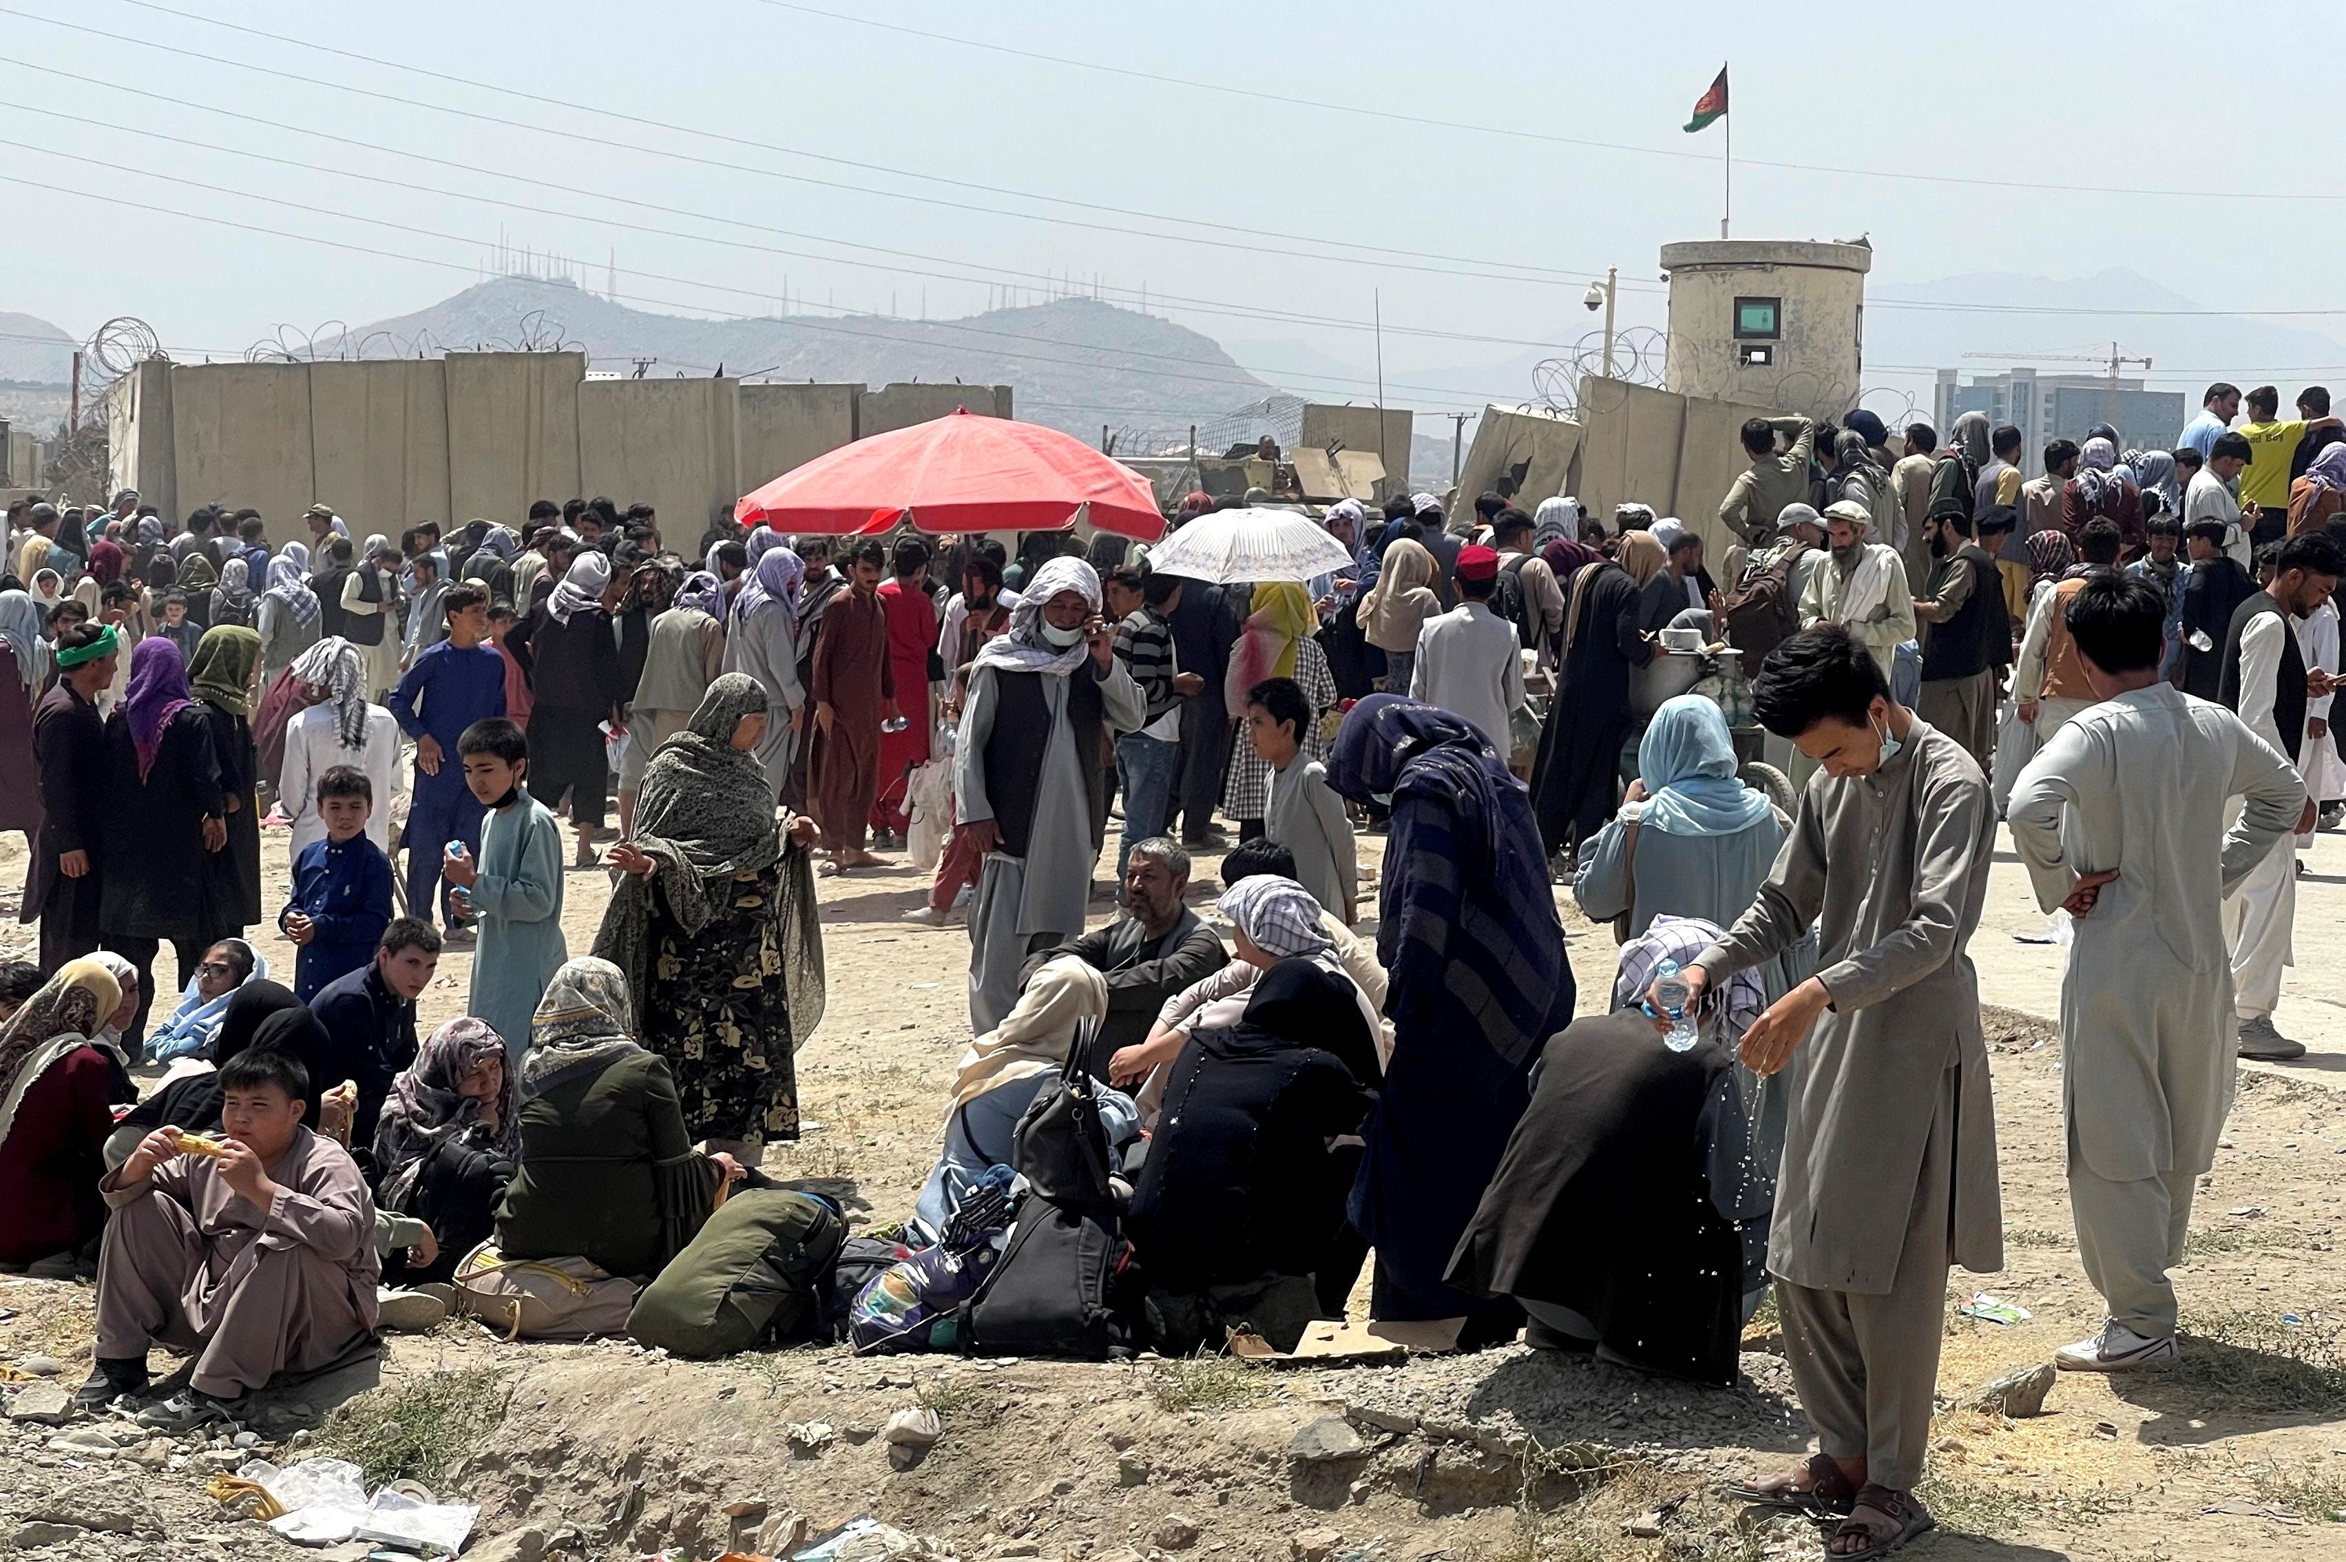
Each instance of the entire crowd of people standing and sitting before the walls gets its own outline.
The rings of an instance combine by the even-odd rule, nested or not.
[[[906,915],[967,922],[971,1041],[899,1290],[969,1302],[983,1349],[992,1281],[955,1276],[1035,1285],[1032,1231],[1091,1222],[1131,1346],[1288,1349],[1372,1255],[1372,1318],[1731,1381],[1774,1283],[1820,1454],[1741,1494],[1879,1555],[1931,1522],[1945,1274],[2001,1266],[1966,957],[1999,819],[2074,924],[2109,1320],[2062,1367],[2175,1360],[2233,1055],[2301,1051],[2271,1013],[2294,849],[2346,797],[2346,429],[2299,408],[2219,385],[2172,453],[2097,429],[2032,481],[1978,413],[1898,453],[1865,413],[1755,420],[1715,575],[1677,518],[1513,483],[1347,500],[1344,568],[1236,584],[1074,532],[720,521],[687,556],[608,500],[396,549],[328,507],[274,549],[251,511],[19,507],[0,826],[40,962],[0,971],[0,1262],[94,1264],[84,1405],[195,1356],[157,1426],[436,1316],[467,1255],[706,1262],[800,1133],[816,877],[903,849]],[[1666,657],[1701,680],[1656,692]],[[1788,795],[1748,783],[1764,741]],[[249,940],[274,830],[291,985]],[[589,952],[565,865],[608,875]],[[1558,884],[1621,945],[1595,1018]],[[465,1013],[420,1037],[446,948]]]

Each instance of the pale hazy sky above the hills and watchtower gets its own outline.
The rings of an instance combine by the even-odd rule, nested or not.
[[[1349,364],[1375,361],[1356,326],[1382,293],[1389,394],[1408,401],[1412,368],[1581,338],[1581,291],[1605,265],[1645,288],[1623,293],[1623,326],[1661,324],[1656,249],[1720,220],[1724,127],[1680,127],[1731,56],[1738,237],[1867,232],[1877,284],[2123,265],[2208,307],[2337,310],[2273,324],[2346,333],[2341,197],[2318,167],[2189,108],[2196,82],[2262,82],[2236,101],[2276,115],[2271,148],[2285,145],[2297,110],[2266,91],[2273,40],[2198,5],[2128,7],[2140,49],[2104,47],[2109,7],[2067,2],[1947,12],[1964,35],[1849,7],[1776,7],[1762,30],[1750,5],[1708,0],[171,7],[5,0],[0,310],[77,335],[141,314],[174,356],[242,354],[282,324],[443,298],[490,265],[502,230],[575,256],[598,291],[617,251],[617,293],[638,307],[765,314],[788,293],[793,310],[941,317],[983,310],[990,284],[1072,274],[1119,303],[1147,288],[1152,310],[1222,340]],[[2287,47],[2327,59],[2341,33],[2339,12],[2301,7]],[[2318,199],[2210,195],[2226,188]],[[1982,319],[1980,345],[2076,335],[2046,331],[2062,340]],[[1297,389],[1368,394],[1335,378]]]

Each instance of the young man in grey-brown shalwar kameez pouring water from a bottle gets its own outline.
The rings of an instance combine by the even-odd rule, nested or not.
[[[1818,762],[1757,903],[1687,976],[1701,994],[1818,929],[1818,973],[1762,1011],[1743,1060],[1802,1048],[1769,1274],[1820,1456],[1748,1501],[1849,1513],[1842,1543],[1931,1527],[1947,1266],[2003,1266],[1978,976],[1996,814],[1964,748],[1889,697],[1839,624],[1778,645],[1752,687],[1769,732]],[[1811,1034],[1813,1025],[1813,1034]]]

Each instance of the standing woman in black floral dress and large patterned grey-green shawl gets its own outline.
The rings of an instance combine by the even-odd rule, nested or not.
[[[798,1137],[791,1055],[823,1018],[814,821],[774,819],[755,760],[767,720],[758,680],[725,673],[659,746],[594,940],[636,994],[631,1030],[676,1074],[685,1128],[746,1163]]]

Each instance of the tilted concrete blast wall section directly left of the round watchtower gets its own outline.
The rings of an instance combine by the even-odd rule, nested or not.
[[[1720,500],[1736,474],[1750,467],[1743,422],[1783,413],[1595,375],[1581,380],[1579,406],[1584,434],[1577,483],[1591,516],[1609,528],[1614,504],[1652,504],[1656,516],[1677,516],[1694,528],[1713,558],[1738,542],[1720,525]]]

